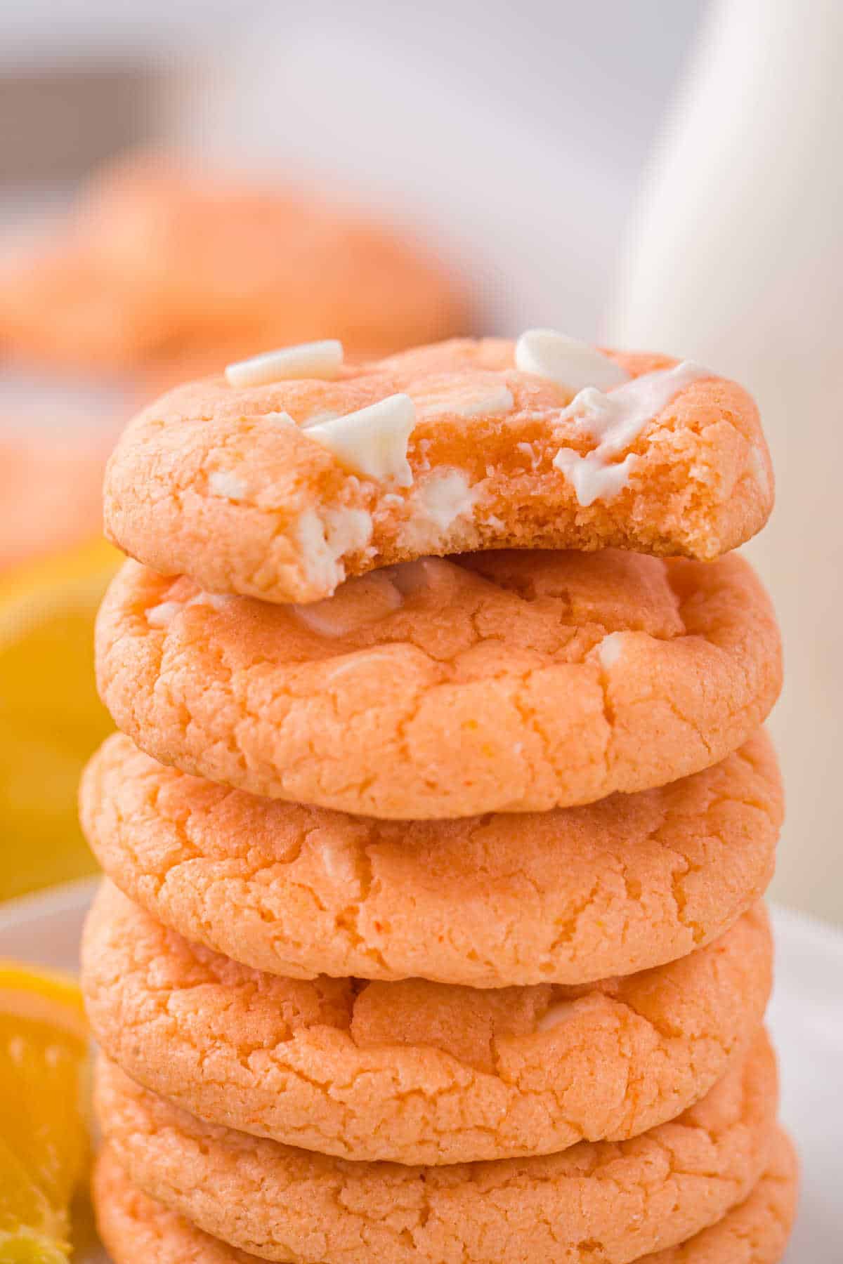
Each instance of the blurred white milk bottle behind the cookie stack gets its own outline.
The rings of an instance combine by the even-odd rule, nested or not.
[[[777,473],[748,547],[785,640],[773,892],[843,920],[840,0],[718,0],[648,173],[607,340],[756,396]]]

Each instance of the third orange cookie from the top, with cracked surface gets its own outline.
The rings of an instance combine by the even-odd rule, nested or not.
[[[763,894],[781,813],[763,732],[658,790],[459,822],[259,799],[121,734],[81,787],[106,873],[187,939],[293,978],[471,987],[586,983],[709,943]]]

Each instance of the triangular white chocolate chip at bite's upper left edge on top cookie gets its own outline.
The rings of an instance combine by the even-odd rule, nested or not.
[[[307,428],[307,437],[327,447],[355,474],[411,487],[407,445],[416,426],[416,406],[407,394],[388,396],[334,421]]]

